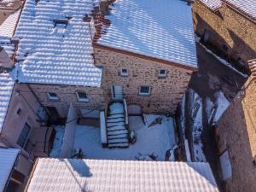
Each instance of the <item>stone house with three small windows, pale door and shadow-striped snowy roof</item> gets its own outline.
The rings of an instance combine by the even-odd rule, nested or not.
[[[96,20],[93,44],[96,64],[104,68],[103,89],[145,113],[175,113],[197,69],[191,7],[124,0],[109,9]]]

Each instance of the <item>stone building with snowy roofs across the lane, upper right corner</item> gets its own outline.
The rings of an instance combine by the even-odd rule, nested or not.
[[[253,0],[195,0],[195,32],[218,55],[248,72],[256,57],[256,11]]]

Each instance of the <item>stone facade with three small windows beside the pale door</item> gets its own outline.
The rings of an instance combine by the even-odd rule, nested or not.
[[[175,113],[177,103],[187,90],[191,71],[156,61],[137,58],[107,49],[95,48],[96,64],[104,67],[103,88],[111,97],[111,86],[122,85],[128,104],[140,105],[144,113]],[[128,77],[120,70],[128,69]],[[167,70],[166,78],[159,78],[160,69]],[[139,87],[149,85],[150,96],[140,96]]]

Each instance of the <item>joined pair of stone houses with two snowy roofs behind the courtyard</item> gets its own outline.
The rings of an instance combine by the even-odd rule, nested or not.
[[[74,3],[26,1],[15,32],[18,83],[30,84],[54,119],[67,117],[70,103],[80,116],[98,117],[122,98],[145,113],[174,113],[197,70],[191,7],[124,0],[105,3],[109,15],[99,16],[98,1]],[[136,12],[125,9],[128,3]]]

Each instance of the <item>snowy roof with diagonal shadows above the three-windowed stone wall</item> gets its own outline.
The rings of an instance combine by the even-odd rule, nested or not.
[[[191,7],[181,0],[119,0],[96,44],[197,68]]]

